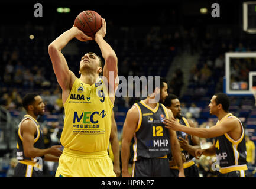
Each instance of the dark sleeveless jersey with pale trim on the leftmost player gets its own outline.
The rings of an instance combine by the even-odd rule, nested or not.
[[[39,149],[44,149],[44,137],[43,137],[43,132],[40,128],[40,125],[38,124],[37,120],[34,119],[32,116],[30,116],[28,114],[24,115],[23,119],[21,120],[21,122],[18,125],[18,132],[17,132],[18,139],[17,139],[16,155],[17,155],[18,161],[22,161],[22,160],[32,160],[33,161],[33,158],[25,157],[23,144],[22,144],[23,137],[21,136],[21,123],[24,122],[24,120],[26,120],[26,119],[32,120],[35,123],[35,127],[37,128],[37,132],[35,133],[35,136],[34,136],[34,147],[39,148]],[[44,158],[44,156],[41,158]]]

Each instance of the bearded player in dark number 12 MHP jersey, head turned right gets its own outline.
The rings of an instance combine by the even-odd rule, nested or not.
[[[160,102],[164,101],[168,95],[167,82],[160,79],[160,86],[155,87],[154,81],[153,79],[153,93],[148,93],[145,100],[135,103],[127,112],[121,149],[123,177],[130,177],[128,161],[132,138],[134,138],[132,177],[170,177],[167,158],[170,147],[179,168],[179,177],[184,177],[176,132],[166,129],[163,125],[163,119],[173,118],[173,113],[161,103],[152,103],[157,95],[160,95]]]

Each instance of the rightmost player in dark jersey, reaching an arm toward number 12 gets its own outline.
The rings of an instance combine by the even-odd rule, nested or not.
[[[175,119],[164,119],[166,128],[186,132],[202,138],[214,138],[208,149],[197,149],[196,157],[200,155],[216,155],[218,177],[245,177],[247,170],[245,133],[241,120],[228,113],[229,99],[226,94],[218,93],[210,100],[210,114],[218,117],[215,126],[206,128],[188,128],[180,125]]]

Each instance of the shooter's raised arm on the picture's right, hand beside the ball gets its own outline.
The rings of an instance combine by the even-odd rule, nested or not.
[[[109,92],[114,92],[118,84],[110,81],[110,73],[114,74],[114,79],[118,76],[117,57],[112,47],[103,39],[106,35],[106,21],[102,18],[102,27],[95,34],[95,41],[101,49],[102,57],[105,59],[105,66],[103,67],[103,76],[106,77],[109,84]]]

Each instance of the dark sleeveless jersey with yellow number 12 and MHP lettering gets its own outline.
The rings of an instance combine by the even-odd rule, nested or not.
[[[138,108],[139,120],[134,133],[134,158],[163,157],[170,153],[170,133],[164,127],[163,118],[168,118],[166,107],[157,103],[155,109],[143,101],[135,103]]]

